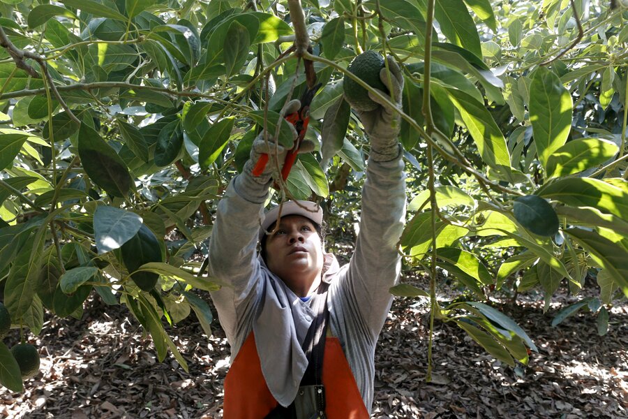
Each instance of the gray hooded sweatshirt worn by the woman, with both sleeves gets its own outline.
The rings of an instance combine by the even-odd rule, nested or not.
[[[302,301],[257,256],[257,234],[269,185],[247,173],[232,179],[218,204],[209,246],[211,276],[223,286],[211,293],[231,346],[231,362],[253,331],[262,374],[275,399],[289,405],[307,367],[301,349],[315,313],[313,296]],[[373,404],[375,344],[398,282],[397,243],[405,221],[405,175],[400,155],[369,161],[362,189],[359,235],[343,267],[324,255],[323,280],[331,333],[338,337],[366,409]]]

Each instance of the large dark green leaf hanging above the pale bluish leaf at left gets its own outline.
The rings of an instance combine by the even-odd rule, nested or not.
[[[78,154],[83,170],[95,184],[111,196],[126,196],[133,183],[128,168],[114,149],[86,124],[81,124],[79,130]]]

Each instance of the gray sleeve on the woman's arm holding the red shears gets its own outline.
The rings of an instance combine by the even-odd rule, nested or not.
[[[262,278],[256,248],[268,187],[248,175],[234,177],[218,203],[209,240],[209,274],[226,284],[211,298],[236,351],[250,330],[244,319],[251,318]]]

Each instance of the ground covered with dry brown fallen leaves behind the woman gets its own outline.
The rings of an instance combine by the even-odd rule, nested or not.
[[[590,312],[552,328],[560,303],[577,299],[559,296],[546,314],[540,295],[517,304],[495,301],[539,348],[527,366],[516,368],[491,358],[455,325],[437,321],[433,381],[426,383],[426,302],[396,298],[377,346],[372,417],[628,418],[628,304],[624,299],[611,309],[604,337]],[[47,316],[41,335],[31,339],[40,349],[41,372],[21,394],[0,390],[0,417],[222,417],[229,348],[216,319],[211,337],[193,315],[169,330],[188,362],[186,373],[170,354],[156,361],[150,337],[126,307],[96,298],[85,308],[80,321]],[[13,332],[5,339],[9,346],[17,341]]]

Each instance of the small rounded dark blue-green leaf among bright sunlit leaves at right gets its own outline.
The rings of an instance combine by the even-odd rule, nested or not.
[[[536,195],[520,196],[514,200],[515,219],[532,233],[553,236],[558,233],[558,216],[553,207]]]

